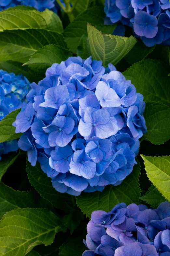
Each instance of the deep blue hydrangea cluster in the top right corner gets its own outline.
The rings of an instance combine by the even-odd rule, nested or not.
[[[105,0],[105,23],[119,22],[114,34],[124,35],[128,25],[146,46],[170,45],[169,0]]]

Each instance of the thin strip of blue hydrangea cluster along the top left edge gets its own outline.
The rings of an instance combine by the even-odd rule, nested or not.
[[[61,2],[64,4],[63,0]],[[38,11],[44,11],[47,8],[55,13],[59,9],[59,5],[55,0],[0,0],[0,11],[17,5],[31,6]]]

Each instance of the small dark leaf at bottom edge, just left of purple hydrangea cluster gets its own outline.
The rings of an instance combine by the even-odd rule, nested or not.
[[[83,237],[72,238],[68,240],[60,247],[59,256],[79,256],[87,249],[83,244]]]

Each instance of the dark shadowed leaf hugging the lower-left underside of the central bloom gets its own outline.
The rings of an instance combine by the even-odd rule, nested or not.
[[[41,170],[38,162],[36,166],[33,167],[31,163],[27,161],[26,170],[31,185],[35,187],[42,197],[50,201],[56,208],[63,210],[65,202],[68,204],[72,203],[72,197],[70,195],[57,192],[53,188],[51,179]]]

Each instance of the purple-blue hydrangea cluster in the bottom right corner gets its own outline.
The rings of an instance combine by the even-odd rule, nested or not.
[[[156,210],[120,203],[94,211],[87,225],[83,256],[170,256],[170,203]]]

